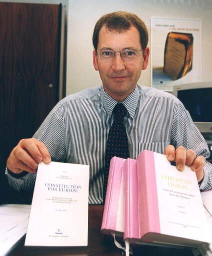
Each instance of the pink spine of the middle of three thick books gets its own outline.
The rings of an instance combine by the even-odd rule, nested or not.
[[[124,172],[124,239],[139,239],[138,181],[136,160],[128,158]]]

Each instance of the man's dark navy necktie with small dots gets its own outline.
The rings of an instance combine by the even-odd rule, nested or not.
[[[105,154],[105,175],[103,198],[105,199],[107,190],[108,173],[110,168],[110,160],[113,156],[118,156],[127,159],[129,157],[129,147],[126,130],[124,127],[124,117],[127,114],[127,109],[122,103],[118,103],[114,109],[114,122],[110,128],[107,139],[107,147]]]

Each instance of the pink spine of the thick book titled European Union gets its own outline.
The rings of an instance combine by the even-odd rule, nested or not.
[[[148,232],[161,233],[154,152],[142,151],[136,164],[141,237]]]

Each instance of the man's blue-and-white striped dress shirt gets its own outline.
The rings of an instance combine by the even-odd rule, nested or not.
[[[209,157],[205,139],[173,95],[137,85],[122,103],[128,111],[125,128],[131,158],[136,159],[144,149],[164,154],[169,144]],[[89,203],[103,202],[104,157],[116,104],[102,86],[69,95],[53,108],[33,136],[46,145],[52,161],[89,165]],[[206,162],[204,169],[201,190],[212,188],[212,164]],[[19,180],[7,176],[9,184],[21,190],[33,188],[36,174]]]

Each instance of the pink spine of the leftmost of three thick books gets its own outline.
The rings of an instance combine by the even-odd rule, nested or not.
[[[105,197],[104,213],[101,229],[116,230],[116,221],[125,159],[113,157],[110,161],[107,192]]]

